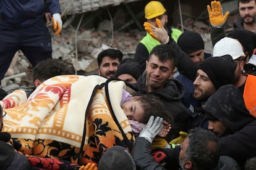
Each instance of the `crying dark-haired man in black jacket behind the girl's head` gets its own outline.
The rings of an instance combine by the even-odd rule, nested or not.
[[[133,84],[136,95],[154,94],[163,102],[164,109],[173,117],[172,131],[166,140],[169,142],[179,137],[179,132],[187,132],[189,113],[181,102],[184,87],[173,78],[177,63],[177,53],[168,44],[155,46],[148,60],[143,75]]]

